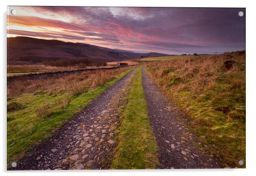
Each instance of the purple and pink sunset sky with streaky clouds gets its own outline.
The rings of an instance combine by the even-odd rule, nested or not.
[[[15,9],[16,14],[11,14]],[[245,8],[9,6],[7,37],[166,54],[245,50]]]

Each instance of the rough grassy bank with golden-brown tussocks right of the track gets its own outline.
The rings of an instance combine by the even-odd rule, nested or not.
[[[234,61],[230,69],[227,60]],[[245,162],[245,52],[159,61],[146,69],[191,116],[191,130],[206,136],[200,147],[220,156],[223,167],[245,168],[238,165]]]

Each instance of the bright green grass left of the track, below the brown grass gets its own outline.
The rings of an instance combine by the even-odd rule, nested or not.
[[[134,68],[122,72],[118,77],[92,91],[80,96],[72,96],[70,103],[64,109],[57,109],[46,118],[37,117],[35,115],[36,108],[43,106],[43,104],[54,104],[59,100],[67,99],[70,96],[68,93],[51,95],[50,91],[46,90],[40,93],[24,93],[20,97],[9,100],[7,102],[9,107],[10,105],[19,106],[18,108],[9,108],[10,111],[7,113],[7,163],[17,162],[24,156],[25,151],[38,144],[38,140],[46,140],[51,137],[74,114],[79,113],[92,99],[132,69]]]

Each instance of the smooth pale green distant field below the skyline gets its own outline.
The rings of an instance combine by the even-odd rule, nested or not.
[[[165,60],[183,60],[183,59],[197,59],[205,55],[168,55],[168,56],[157,56],[157,57],[148,57],[141,58],[140,61],[165,61]]]

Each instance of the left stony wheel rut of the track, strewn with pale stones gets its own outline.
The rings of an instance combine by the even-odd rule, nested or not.
[[[136,69],[135,69],[136,70]],[[94,99],[50,139],[26,154],[11,170],[108,169],[116,145],[118,108],[134,71]]]

